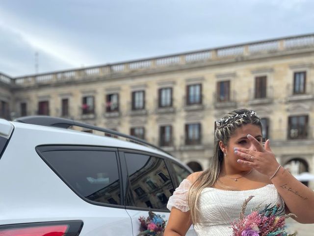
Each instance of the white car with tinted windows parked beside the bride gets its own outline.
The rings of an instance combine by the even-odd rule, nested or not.
[[[136,236],[149,209],[168,219],[168,198],[190,173],[119,132],[63,118],[0,119],[0,236]]]

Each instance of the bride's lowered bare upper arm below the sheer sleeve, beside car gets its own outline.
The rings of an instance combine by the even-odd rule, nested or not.
[[[192,225],[190,211],[182,212],[172,207],[164,236],[184,236]]]

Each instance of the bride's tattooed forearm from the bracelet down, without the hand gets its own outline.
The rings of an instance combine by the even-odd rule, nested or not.
[[[314,191],[280,167],[271,179],[289,212],[295,214],[299,223],[314,223]]]

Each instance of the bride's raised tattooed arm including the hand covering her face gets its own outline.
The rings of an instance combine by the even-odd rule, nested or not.
[[[283,167],[280,167],[275,176],[279,163],[269,147],[269,140],[265,148],[253,136],[248,139],[254,145],[254,149],[235,148],[235,153],[245,159],[238,159],[237,162],[254,168],[258,172],[271,178],[280,196],[285,201],[288,210],[297,216],[296,221],[300,223],[314,223],[314,192],[293,177]]]

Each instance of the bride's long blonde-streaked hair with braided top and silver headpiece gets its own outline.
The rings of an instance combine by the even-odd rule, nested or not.
[[[256,116],[254,111],[247,109],[234,110],[218,120],[216,124],[214,153],[213,157],[209,159],[209,168],[192,184],[187,194],[187,202],[194,225],[200,223],[198,200],[202,190],[212,186],[219,177],[224,158],[224,153],[219,147],[219,141],[222,141],[223,144],[227,146],[235,130],[245,124],[257,125],[261,127],[262,130],[261,119]]]

